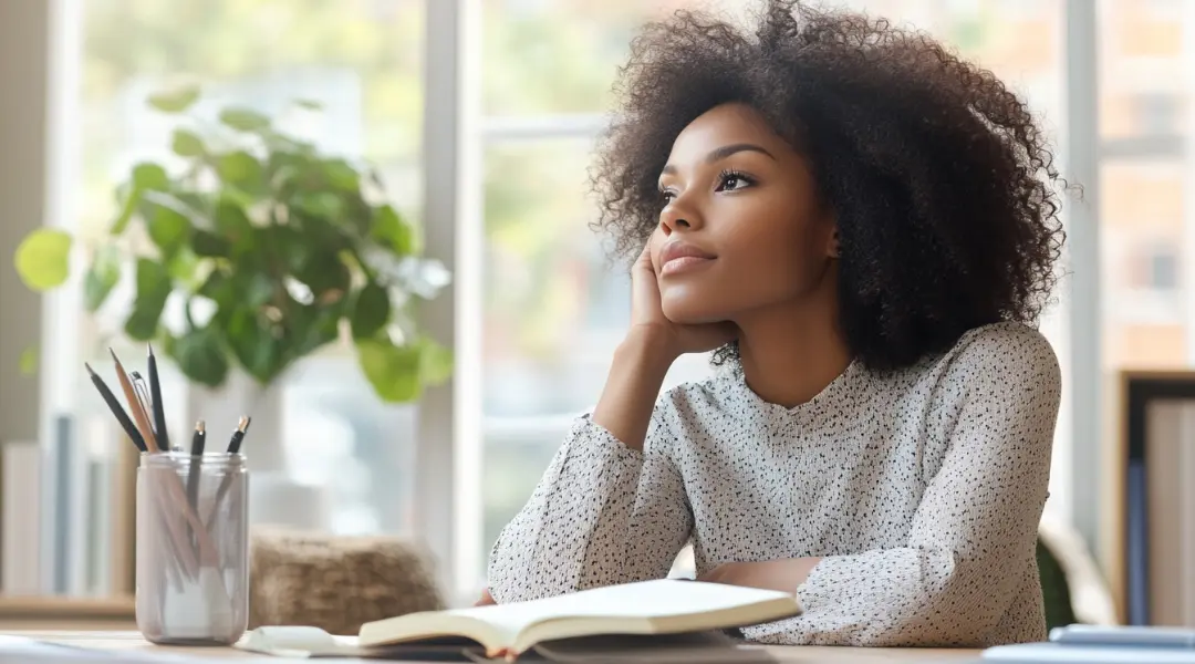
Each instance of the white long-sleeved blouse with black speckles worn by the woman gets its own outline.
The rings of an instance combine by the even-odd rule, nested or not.
[[[1037,331],[973,330],[889,374],[852,363],[795,408],[737,367],[667,392],[644,450],[575,423],[490,557],[498,602],[728,561],[822,557],[772,644],[967,645],[1046,637],[1035,543],[1058,418]]]

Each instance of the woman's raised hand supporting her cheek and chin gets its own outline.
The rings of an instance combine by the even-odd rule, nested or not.
[[[664,316],[660,305],[660,284],[651,264],[651,242],[631,270],[631,330],[629,336],[651,339],[651,346],[673,361],[688,352],[706,352],[735,339],[739,333],[733,322],[679,325]]]

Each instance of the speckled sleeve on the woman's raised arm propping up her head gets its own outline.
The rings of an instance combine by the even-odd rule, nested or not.
[[[641,453],[589,416],[576,420],[531,499],[490,553],[495,601],[663,578],[693,517],[656,407]]]

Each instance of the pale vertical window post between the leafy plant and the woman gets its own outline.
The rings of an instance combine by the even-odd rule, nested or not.
[[[477,155],[468,122],[477,96],[476,54],[466,48],[476,0],[428,0],[424,25],[423,229],[425,252],[453,272],[452,285],[421,309],[421,324],[455,352],[449,385],[419,402],[415,447],[415,528],[437,560],[454,604],[477,582],[480,535],[482,238]],[[473,148],[476,149],[476,148]]]

